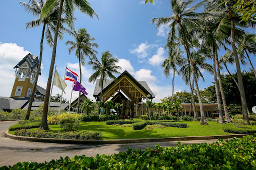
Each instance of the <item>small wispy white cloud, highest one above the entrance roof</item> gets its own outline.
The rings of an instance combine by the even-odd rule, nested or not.
[[[133,45],[134,46],[134,45]],[[147,42],[140,43],[137,48],[129,49],[129,52],[132,54],[136,54],[139,58],[147,57],[147,51],[149,48],[157,47],[157,44],[147,44]]]

